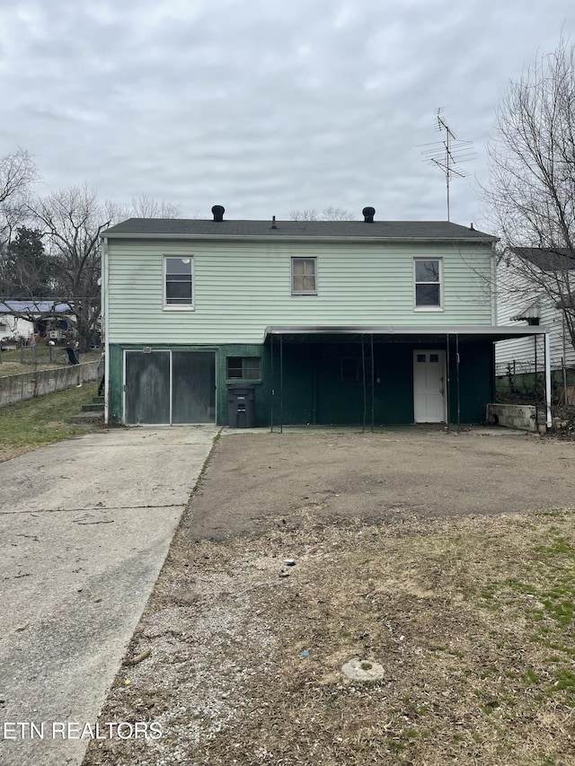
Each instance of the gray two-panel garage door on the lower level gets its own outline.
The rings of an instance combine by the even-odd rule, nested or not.
[[[126,423],[216,422],[213,351],[126,351]]]

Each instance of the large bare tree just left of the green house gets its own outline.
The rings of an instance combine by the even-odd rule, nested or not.
[[[55,292],[70,304],[80,350],[85,350],[101,313],[100,234],[116,210],[100,204],[96,193],[84,185],[37,199],[31,213],[44,234]]]

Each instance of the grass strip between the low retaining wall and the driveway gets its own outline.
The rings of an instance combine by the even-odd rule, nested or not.
[[[0,462],[51,445],[68,436],[78,436],[98,429],[94,423],[71,423],[70,417],[92,401],[98,383],[84,383],[81,388],[48,393],[0,409]]]

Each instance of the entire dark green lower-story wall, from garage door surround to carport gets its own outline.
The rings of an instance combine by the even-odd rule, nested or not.
[[[123,422],[123,352],[143,345],[112,345],[110,349],[111,419]],[[154,345],[154,350],[214,350],[217,368],[217,423],[228,423],[228,385],[248,383],[254,387],[255,425],[358,425],[364,420],[364,383],[341,380],[341,359],[355,358],[363,365],[360,342],[323,340],[270,344],[213,346]],[[374,423],[413,422],[413,351],[446,349],[443,343],[374,341]],[[449,345],[449,422],[481,423],[485,405],[492,401],[493,351],[490,341],[460,342],[459,367],[456,343]],[[273,360],[272,360],[273,353]],[[364,346],[365,363],[371,370],[370,345]],[[227,357],[261,357],[261,380],[226,379]],[[459,380],[457,381],[457,374]],[[367,374],[369,378],[369,374]],[[273,393],[272,393],[273,392]],[[367,383],[366,422],[371,424],[371,389]],[[273,409],[272,409],[273,405]]]

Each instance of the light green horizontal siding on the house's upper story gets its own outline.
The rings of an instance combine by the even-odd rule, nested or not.
[[[490,325],[489,244],[114,240],[111,343],[260,343],[268,325]],[[163,256],[194,259],[193,311],[164,310]],[[291,258],[318,295],[291,295]],[[414,311],[413,258],[440,258],[443,311]]]

